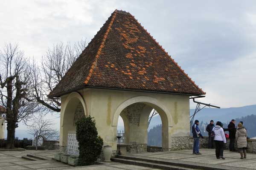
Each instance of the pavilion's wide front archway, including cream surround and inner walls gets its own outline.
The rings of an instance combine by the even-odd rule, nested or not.
[[[152,109],[157,110],[161,117],[162,147],[168,150],[170,141],[168,132],[172,124],[172,118],[168,110],[154,98],[139,96],[123,102],[116,109],[113,126],[116,123],[116,116],[120,115],[125,126],[126,143],[136,142],[141,147],[140,150],[145,151],[148,142],[148,117]]]

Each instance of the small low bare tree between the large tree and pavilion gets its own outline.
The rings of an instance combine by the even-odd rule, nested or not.
[[[35,136],[35,133],[38,132],[38,135],[44,136],[47,140],[59,139],[59,131],[53,127],[54,122],[45,119],[44,114],[34,114],[30,122],[32,122],[32,124],[28,127],[29,134]]]

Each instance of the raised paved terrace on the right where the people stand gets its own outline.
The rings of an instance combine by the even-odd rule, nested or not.
[[[154,159],[161,161],[174,161],[185,163],[198,163],[209,167],[232,167],[233,170],[256,169],[256,154],[247,153],[247,159],[240,159],[240,153],[225,150],[223,159],[216,159],[215,149],[201,149],[202,155],[193,155],[192,150],[176,150],[169,152],[138,153],[128,156]],[[230,169],[228,168],[228,169]]]

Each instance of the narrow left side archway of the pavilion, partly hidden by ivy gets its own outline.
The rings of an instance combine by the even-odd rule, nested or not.
[[[68,133],[71,131],[76,131],[76,121],[86,116],[85,109],[85,103],[81,96],[73,94],[70,96],[70,98],[68,98],[68,101],[64,107],[64,112],[61,115],[61,146],[67,146]]]

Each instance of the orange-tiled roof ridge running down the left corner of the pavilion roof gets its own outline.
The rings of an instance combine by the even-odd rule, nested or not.
[[[94,62],[93,62],[93,65],[92,65],[91,68],[90,68],[90,71],[89,71],[88,76],[87,76],[86,79],[84,80],[84,83],[85,83],[85,84],[87,84],[87,83],[89,82],[89,80],[90,80],[90,78],[91,78],[91,76],[92,76],[92,74],[93,74],[93,70],[94,70],[94,68],[96,67],[96,64],[97,64],[97,62],[98,62],[100,52],[101,52],[101,50],[102,50],[102,48],[103,48],[103,46],[104,46],[104,44],[105,44],[105,41],[106,41],[106,39],[107,39],[107,37],[108,37],[108,33],[109,33],[109,31],[110,31],[110,29],[111,29],[111,26],[112,26],[112,24],[113,24],[113,22],[114,22],[114,20],[115,20],[115,18],[116,18],[116,12],[117,12],[117,9],[112,13],[111,21],[110,21],[110,23],[109,23],[109,25],[108,25],[107,31],[105,32],[105,34],[104,34],[104,36],[103,36],[102,43],[101,43],[101,45],[99,46],[99,49],[98,49],[98,51],[97,51],[95,60],[94,60]]]

